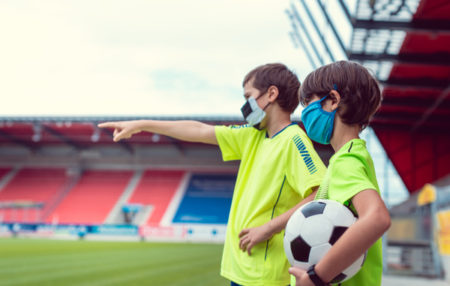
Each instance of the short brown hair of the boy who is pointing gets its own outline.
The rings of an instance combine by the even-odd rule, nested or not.
[[[299,104],[300,81],[297,75],[280,63],[265,64],[251,70],[244,78],[242,86],[253,79],[253,86],[265,93],[270,86],[278,88],[278,105],[292,113]]]

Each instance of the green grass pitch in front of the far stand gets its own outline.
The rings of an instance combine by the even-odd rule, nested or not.
[[[222,247],[0,239],[0,285],[229,285]]]

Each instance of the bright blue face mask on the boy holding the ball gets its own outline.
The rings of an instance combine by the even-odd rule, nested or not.
[[[303,109],[301,117],[308,137],[321,144],[330,144],[331,135],[333,134],[334,117],[337,111],[337,109],[332,112],[323,110],[322,101],[327,96],[309,104]]]

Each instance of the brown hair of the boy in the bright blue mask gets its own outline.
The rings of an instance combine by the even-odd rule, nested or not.
[[[364,129],[381,104],[381,92],[375,77],[362,65],[339,61],[311,72],[300,90],[300,102],[307,105],[314,95],[320,98],[336,90],[341,96],[338,114],[346,124]]]

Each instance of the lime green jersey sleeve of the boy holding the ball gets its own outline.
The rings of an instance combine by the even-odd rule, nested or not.
[[[345,153],[336,158],[329,186],[330,190],[339,190],[333,193],[334,200],[345,203],[364,190],[378,192],[378,188],[370,180],[364,160],[362,156],[353,153]]]

